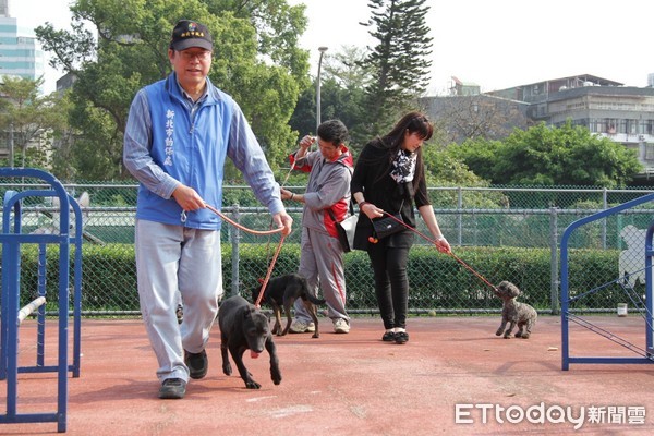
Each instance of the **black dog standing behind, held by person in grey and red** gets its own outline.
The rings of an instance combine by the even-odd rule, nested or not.
[[[254,289],[252,291],[252,301],[256,302],[261,292],[261,286]],[[306,279],[299,274],[287,274],[286,276],[270,279],[268,281],[268,286],[266,286],[264,296],[262,298],[262,304],[270,304],[272,306],[272,311],[275,312],[275,326],[272,327],[272,335],[284,336],[289,332],[292,320],[291,306],[299,298],[302,299],[302,303],[304,303],[306,312],[308,312],[314,325],[316,326],[313,337],[318,338],[320,336],[318,332],[318,316],[315,304],[325,304],[325,300],[314,296],[308,289]],[[281,307],[283,307],[288,318],[287,326],[283,330],[281,329]]]

